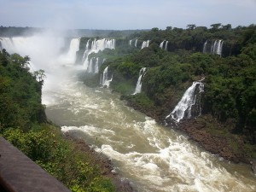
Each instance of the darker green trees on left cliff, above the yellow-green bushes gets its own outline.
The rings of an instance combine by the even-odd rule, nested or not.
[[[24,130],[45,122],[40,82],[29,72],[28,56],[0,52],[0,125]]]

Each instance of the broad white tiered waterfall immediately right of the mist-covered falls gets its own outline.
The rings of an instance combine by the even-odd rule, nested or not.
[[[87,73],[98,73],[99,59],[96,59],[96,62],[91,61],[89,55],[103,49],[115,49],[115,39],[102,38],[87,41],[83,56],[84,69]]]

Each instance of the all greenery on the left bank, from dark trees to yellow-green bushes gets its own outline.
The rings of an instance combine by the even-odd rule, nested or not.
[[[0,134],[72,191],[114,191],[95,157],[67,142],[46,121],[44,71],[29,72],[29,57],[0,51]]]

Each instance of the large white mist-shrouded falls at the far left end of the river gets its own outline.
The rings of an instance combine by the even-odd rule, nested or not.
[[[53,68],[56,63],[73,65],[76,61],[77,51],[79,50],[80,38],[72,38],[70,40],[69,49],[66,53],[61,51],[65,46],[65,40],[59,37],[42,35],[1,38],[0,41],[2,48],[6,49],[9,54],[18,53],[21,56],[29,55],[32,61],[32,70],[38,70],[37,67],[44,68],[45,65],[50,66],[48,69]],[[48,60],[48,63],[45,63],[45,59]],[[36,63],[37,65],[33,66],[32,63]]]

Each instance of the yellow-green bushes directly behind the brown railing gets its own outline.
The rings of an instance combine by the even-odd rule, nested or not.
[[[52,126],[28,132],[7,129],[3,137],[73,191],[114,191],[91,157],[73,148]]]

